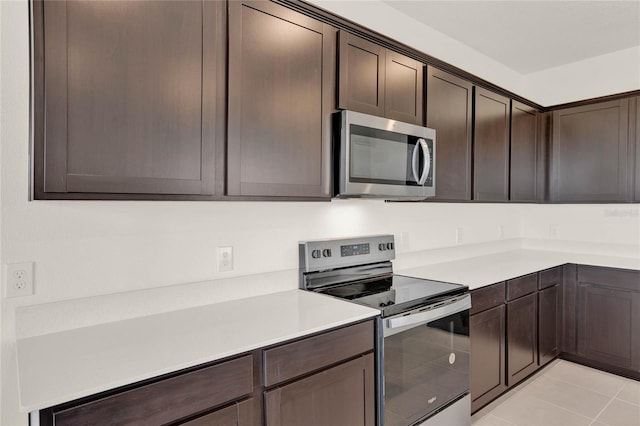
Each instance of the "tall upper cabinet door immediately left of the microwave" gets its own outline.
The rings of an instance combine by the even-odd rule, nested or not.
[[[330,195],[334,37],[275,3],[229,2],[229,195]]]

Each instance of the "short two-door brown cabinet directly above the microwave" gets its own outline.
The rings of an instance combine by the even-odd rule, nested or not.
[[[338,37],[338,108],[422,125],[424,64],[345,31]]]

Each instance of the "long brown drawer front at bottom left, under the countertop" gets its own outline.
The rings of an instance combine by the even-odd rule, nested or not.
[[[251,355],[55,412],[55,425],[165,424],[253,391]]]

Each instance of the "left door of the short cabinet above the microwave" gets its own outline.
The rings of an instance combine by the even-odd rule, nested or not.
[[[386,49],[340,31],[338,108],[384,116]]]

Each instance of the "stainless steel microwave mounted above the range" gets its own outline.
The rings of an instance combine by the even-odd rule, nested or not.
[[[335,113],[333,125],[337,198],[435,195],[435,130],[355,111]]]

